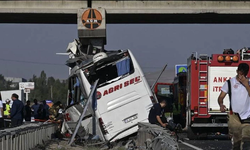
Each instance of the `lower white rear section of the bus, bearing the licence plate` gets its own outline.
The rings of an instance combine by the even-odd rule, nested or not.
[[[142,97],[138,97],[130,103],[102,114],[101,118],[103,119],[106,130],[109,133],[105,136],[106,139],[109,140],[115,134],[124,129],[137,126],[138,122],[148,122],[148,114],[151,106],[151,99],[146,94]],[[124,132],[123,135],[127,136],[134,132],[136,132],[136,129],[128,130]],[[122,136],[120,135],[115,139],[118,138],[122,138]]]

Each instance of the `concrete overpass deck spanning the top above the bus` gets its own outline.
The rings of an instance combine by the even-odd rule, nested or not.
[[[88,7],[105,8],[107,23],[250,23],[249,0],[0,0],[0,23],[76,24]]]

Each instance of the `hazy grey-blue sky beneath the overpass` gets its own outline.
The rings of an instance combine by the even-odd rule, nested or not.
[[[77,38],[76,25],[0,24],[0,74],[29,79],[42,70],[65,79],[69,42]],[[144,72],[185,64],[192,52],[222,53],[250,47],[250,25],[111,24],[107,25],[109,49],[130,49]]]

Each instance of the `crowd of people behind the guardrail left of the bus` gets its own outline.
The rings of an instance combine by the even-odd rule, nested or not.
[[[12,105],[10,106],[12,100]],[[63,105],[60,101],[56,102],[52,107],[44,101],[37,99],[28,100],[24,104],[19,100],[19,96],[15,93],[12,94],[11,100],[5,100],[5,103],[0,100],[0,129],[17,127],[24,122],[31,122],[34,117],[36,122],[45,121],[62,121]]]

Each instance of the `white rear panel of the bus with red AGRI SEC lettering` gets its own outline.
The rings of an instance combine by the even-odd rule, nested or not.
[[[138,122],[148,121],[148,113],[152,107],[150,99],[152,92],[131,52],[130,57],[134,65],[134,73],[97,89],[102,95],[98,100],[97,117],[102,118],[108,131],[105,135],[106,140],[127,128],[131,129],[115,139],[130,135],[137,131],[133,126],[137,126]]]

